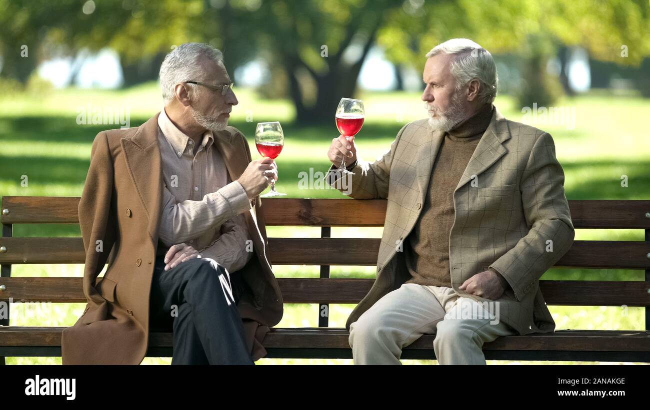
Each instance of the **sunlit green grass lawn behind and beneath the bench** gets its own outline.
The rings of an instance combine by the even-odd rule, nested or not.
[[[276,186],[289,197],[339,198],[333,189],[300,189],[299,174],[324,172],[326,152],[338,135],[333,113],[330,126],[300,127],[292,119],[289,101],[263,100],[251,90],[236,90],[239,106],[231,125],[248,136],[253,158],[259,158],[253,141],[255,124],[281,121],[285,147],[276,160]],[[426,116],[417,93],[365,93],[366,122],[357,135],[359,155],[370,160],[387,151],[400,128]],[[507,118],[522,121],[522,111],[508,96],[495,102]],[[569,199],[650,199],[650,144],[647,115],[650,100],[632,97],[582,96],[564,99],[558,107],[571,113],[569,121],[538,121],[551,132],[557,156],[565,171]],[[79,110],[98,107],[105,112],[127,110],[131,127],[146,121],[162,108],[155,84],[129,90],[56,90],[47,95],[12,95],[0,99],[0,195],[79,196],[88,170],[90,147],[101,130],[110,125],[77,125]],[[574,114],[575,113],[575,114]],[[627,175],[628,186],[621,186]],[[27,186],[21,184],[27,176]],[[318,237],[317,228],[269,227],[274,237]],[[333,228],[333,236],[381,237],[381,228]],[[79,226],[68,224],[16,225],[16,236],[78,236]],[[576,239],[643,240],[642,230],[577,230]],[[278,266],[278,277],[318,277],[318,267]],[[14,276],[83,276],[82,265],[16,265]],[[332,267],[333,277],[372,278],[373,267]],[[551,269],[548,280],[643,280],[643,271],[599,269]],[[52,304],[47,319],[30,317],[23,306],[12,306],[12,326],[71,326],[85,304]],[[330,326],[343,327],[352,305],[331,305]],[[317,326],[316,305],[289,304],[278,327]],[[638,307],[551,306],[556,328],[643,330],[644,312]],[[170,363],[170,358],[146,358],[143,363]],[[60,357],[12,357],[11,364],[60,363]],[[432,363],[410,361],[404,363]],[[351,360],[261,359],[259,364],[351,363]],[[517,363],[490,361],[490,363]],[[554,362],[526,362],[554,363]],[[578,362],[558,362],[578,363]]]

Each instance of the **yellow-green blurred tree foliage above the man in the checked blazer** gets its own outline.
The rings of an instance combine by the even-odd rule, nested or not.
[[[424,67],[423,55],[449,38],[465,37],[491,53],[518,53],[525,62],[519,103],[550,104],[569,90],[565,47],[580,45],[599,60],[638,66],[650,55],[647,0],[406,0],[378,34],[393,62]],[[634,54],[634,55],[632,55]],[[546,67],[558,56],[560,78]]]

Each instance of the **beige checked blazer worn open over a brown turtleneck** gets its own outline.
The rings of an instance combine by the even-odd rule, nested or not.
[[[443,137],[429,130],[427,119],[413,121],[400,130],[389,152],[354,166],[350,197],[387,199],[387,210],[377,278],[346,328],[410,277],[400,245],[420,215]],[[336,182],[340,173],[334,170],[328,171],[332,186],[348,187]],[[496,269],[510,285],[499,298],[500,320],[521,335],[553,332],[539,277],[571,247],[574,230],[551,135],[495,110],[454,191],[454,211],[449,265],[456,293],[488,302],[458,287],[474,274]]]

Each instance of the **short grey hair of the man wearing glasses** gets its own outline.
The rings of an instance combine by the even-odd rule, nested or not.
[[[174,87],[185,81],[201,81],[205,73],[197,64],[205,56],[216,64],[224,64],[224,54],[213,46],[204,43],[181,44],[167,54],[162,61],[160,81],[164,103],[174,100]],[[194,90],[194,84],[187,84]]]

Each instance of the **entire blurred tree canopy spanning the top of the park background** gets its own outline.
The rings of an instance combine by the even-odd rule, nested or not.
[[[419,70],[424,54],[448,38],[519,53],[528,87],[520,102],[530,105],[556,95],[558,80],[545,67],[563,47],[638,65],[650,55],[649,23],[647,0],[0,0],[0,75],[25,82],[44,58],[110,47],[130,85],[156,78],[175,45],[208,42],[231,71],[265,59],[274,73],[265,94],[286,91],[298,121],[331,121],[323,113],[354,95],[376,43],[397,66]],[[29,58],[20,57],[23,44]],[[566,86],[566,67],[560,78]]]

